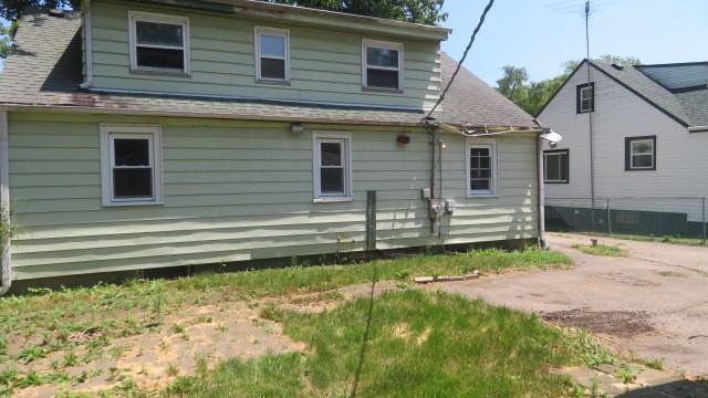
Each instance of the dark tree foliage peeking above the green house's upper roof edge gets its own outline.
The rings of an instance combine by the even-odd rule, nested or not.
[[[436,24],[447,19],[445,0],[262,0],[267,2],[311,7],[357,15]]]

